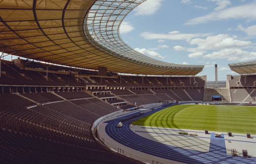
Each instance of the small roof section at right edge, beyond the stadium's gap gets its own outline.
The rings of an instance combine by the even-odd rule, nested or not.
[[[231,70],[239,74],[256,73],[256,60],[250,62],[228,64]]]

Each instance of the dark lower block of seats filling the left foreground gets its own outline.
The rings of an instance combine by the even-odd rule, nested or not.
[[[89,111],[74,101],[78,100],[35,106],[17,94],[0,94],[0,163],[135,163],[95,141],[91,126],[101,117],[99,111]]]

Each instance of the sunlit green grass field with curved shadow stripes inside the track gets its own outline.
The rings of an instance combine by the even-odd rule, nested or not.
[[[132,122],[133,125],[256,134],[256,107],[175,105]]]

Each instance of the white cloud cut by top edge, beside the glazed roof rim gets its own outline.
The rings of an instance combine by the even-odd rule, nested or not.
[[[160,9],[162,1],[163,0],[146,0],[134,9],[135,14],[152,15]]]

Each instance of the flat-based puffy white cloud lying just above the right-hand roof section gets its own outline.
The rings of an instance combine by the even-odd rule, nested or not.
[[[207,54],[204,58],[210,59],[227,59],[228,61],[250,61],[256,60],[256,52],[248,52],[237,48],[222,49]]]

